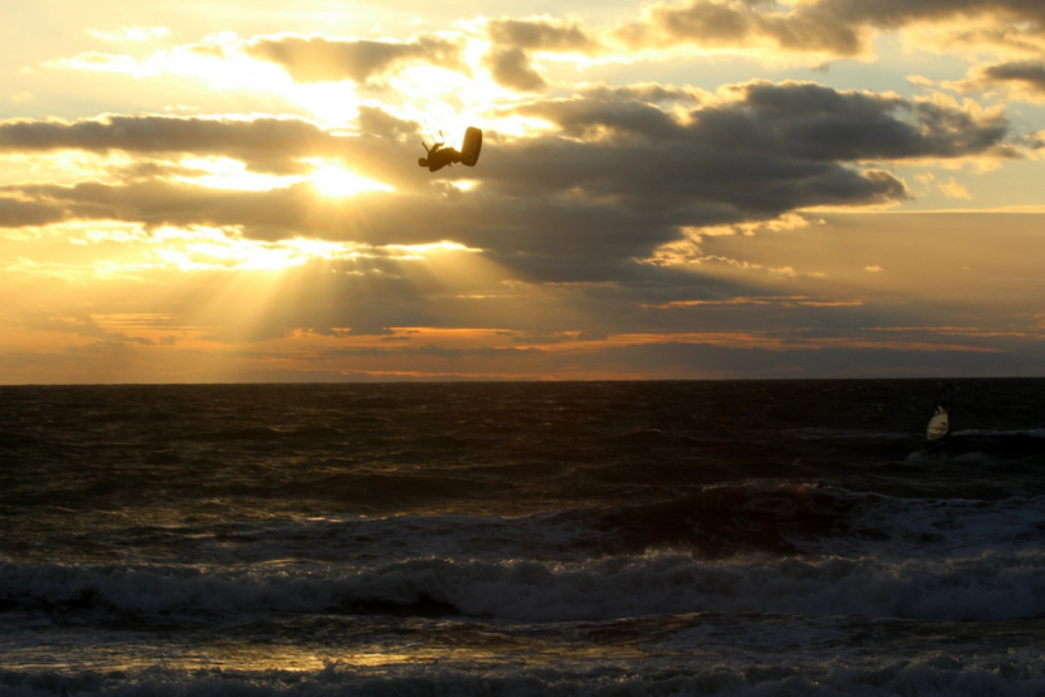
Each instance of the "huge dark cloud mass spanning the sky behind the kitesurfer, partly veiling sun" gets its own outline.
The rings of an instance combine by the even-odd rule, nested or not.
[[[514,141],[488,134],[480,167],[443,175],[446,181],[478,177],[481,185],[467,195],[416,167],[416,148],[399,140],[402,123],[378,110],[367,111],[365,118],[388,137],[339,139],[295,121],[265,127],[298,129],[316,143],[287,141],[284,150],[275,148],[279,157],[293,161],[329,147],[326,155],[392,183],[394,193],[330,200],[307,184],[229,191],[162,179],[6,190],[26,202],[23,206],[38,207],[25,212],[54,217],[237,226],[266,240],[304,235],[380,246],[449,239],[486,250],[529,278],[605,280],[629,273],[634,258],[678,239],[682,227],[772,219],[816,206],[886,204],[908,196],[886,170],[891,162],[1009,155],[1005,121],[896,96],[756,83],[737,87],[732,101],[697,106],[679,118],[649,101],[629,100],[628,94],[591,91],[587,97],[517,108],[554,123],[558,133]],[[640,95],[657,91],[645,86],[636,90]],[[39,124],[48,138],[33,142],[41,148],[85,141],[141,148],[152,142],[127,135],[134,129],[117,138],[110,130],[120,123],[90,122],[83,132],[78,124]],[[255,142],[258,134],[250,122],[219,122],[224,140],[213,138],[209,123],[147,123],[146,132],[165,126],[181,138],[200,127],[211,139],[206,144],[230,155],[257,158],[264,154],[259,148],[271,147]],[[19,124],[16,132],[32,133],[32,125]],[[11,132],[0,126],[4,137],[9,142]],[[170,142],[164,140],[165,146]],[[203,152],[203,144],[178,147]]]

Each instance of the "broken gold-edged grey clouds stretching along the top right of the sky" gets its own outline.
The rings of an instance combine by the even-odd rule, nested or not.
[[[919,41],[934,43],[942,51],[963,46],[970,51],[1029,56],[1039,66],[1045,59],[1045,5],[1037,0],[805,0],[794,4],[692,0],[648,4],[640,17],[617,27],[582,28],[551,20],[505,20],[489,25],[495,47],[491,62],[512,66],[501,71],[502,84],[524,90],[542,83],[530,63],[533,51],[616,57],[636,51],[692,49],[831,60],[868,55],[877,33],[906,27],[932,27]],[[512,56],[510,62],[496,59],[507,55]],[[990,71],[985,74],[993,77]],[[1012,77],[999,75],[998,79]]]

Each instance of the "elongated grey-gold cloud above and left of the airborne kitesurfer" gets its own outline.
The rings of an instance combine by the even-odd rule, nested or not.
[[[245,50],[252,57],[282,66],[300,83],[351,79],[366,84],[409,64],[465,70],[460,47],[438,37],[420,37],[412,42],[282,37],[256,40]]]

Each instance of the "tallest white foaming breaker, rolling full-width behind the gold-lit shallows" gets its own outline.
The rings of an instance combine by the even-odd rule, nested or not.
[[[707,561],[656,553],[583,562],[419,558],[371,568],[0,564],[0,597],[24,608],[143,621],[355,612],[417,603],[529,622],[701,611],[916,620],[1045,617],[1045,553],[887,561],[820,556]]]

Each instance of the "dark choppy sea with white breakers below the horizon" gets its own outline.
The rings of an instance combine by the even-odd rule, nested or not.
[[[0,388],[0,696],[1045,695],[1045,379],[944,382]]]

